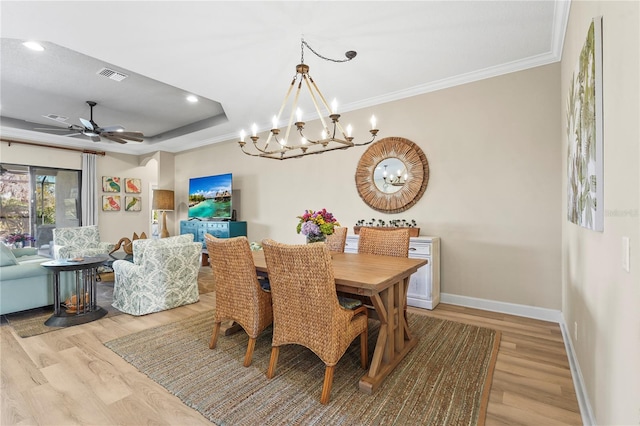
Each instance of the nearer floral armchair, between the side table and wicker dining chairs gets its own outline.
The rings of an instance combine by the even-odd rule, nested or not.
[[[133,262],[113,262],[112,306],[145,315],[197,302],[201,254],[193,234],[133,241]]]

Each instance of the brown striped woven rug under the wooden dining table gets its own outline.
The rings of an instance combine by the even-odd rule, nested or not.
[[[483,425],[500,332],[416,314],[408,320],[418,345],[381,387],[358,390],[356,339],[336,366],[327,405],[320,404],[325,366],[301,346],[282,347],[275,377],[266,378],[271,328],[250,367],[242,366],[244,332],[221,336],[210,350],[213,311],[105,345],[218,425]],[[370,357],[378,324],[369,321]]]

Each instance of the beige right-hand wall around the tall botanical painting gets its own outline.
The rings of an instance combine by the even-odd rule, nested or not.
[[[640,424],[640,3],[571,4],[562,106],[592,18],[603,17],[604,232],[566,220],[563,122],[562,311],[598,424]],[[561,114],[564,117],[564,114]],[[622,237],[631,269],[622,270]],[[578,336],[573,336],[577,324]]]

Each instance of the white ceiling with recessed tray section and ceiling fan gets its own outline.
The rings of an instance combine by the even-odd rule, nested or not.
[[[111,152],[180,152],[237,138],[254,122],[270,129],[301,37],[331,59],[358,52],[346,63],[304,52],[310,75],[344,114],[557,62],[568,13],[568,1],[553,0],[3,0],[0,131]],[[27,50],[27,40],[45,50]],[[127,77],[106,78],[103,68]],[[142,131],[144,142],[60,131],[89,119],[86,101],[97,102],[100,126]]]

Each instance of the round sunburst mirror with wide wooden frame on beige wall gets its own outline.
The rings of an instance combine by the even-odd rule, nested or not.
[[[385,174],[386,171],[386,174]],[[399,213],[411,208],[429,183],[429,163],[418,145],[384,138],[362,154],[356,169],[360,198],[372,209]]]

